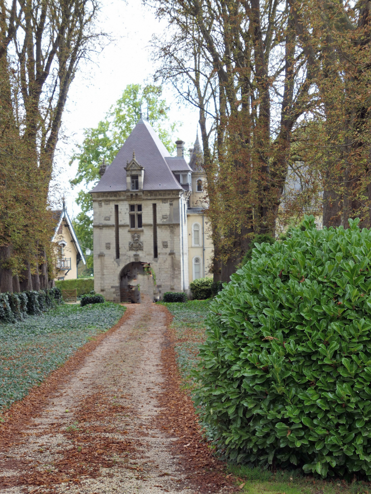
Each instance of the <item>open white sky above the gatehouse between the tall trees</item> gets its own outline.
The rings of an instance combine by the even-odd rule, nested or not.
[[[55,154],[58,189],[60,195],[66,196],[70,217],[76,216],[79,206],[75,203],[77,187],[71,189],[69,184],[77,167],[68,163],[75,145],[83,141],[83,129],[95,127],[128,84],[151,82],[154,66],[150,60],[150,39],[167,28],[141,0],[127,0],[127,3],[102,0],[102,3],[101,28],[115,41],[103,52],[92,54],[92,61],[80,67],[70,88]],[[174,137],[185,141],[188,150],[196,138],[198,111],[180,103],[170,86],[164,87],[163,96],[170,105],[171,121],[182,122]]]

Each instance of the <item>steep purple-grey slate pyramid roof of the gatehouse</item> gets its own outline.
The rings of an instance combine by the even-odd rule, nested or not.
[[[169,151],[159,136],[142,118],[118,151],[115,159],[91,192],[116,192],[127,188],[124,168],[133,158],[144,168],[143,190],[182,190],[174,177],[166,158]]]

